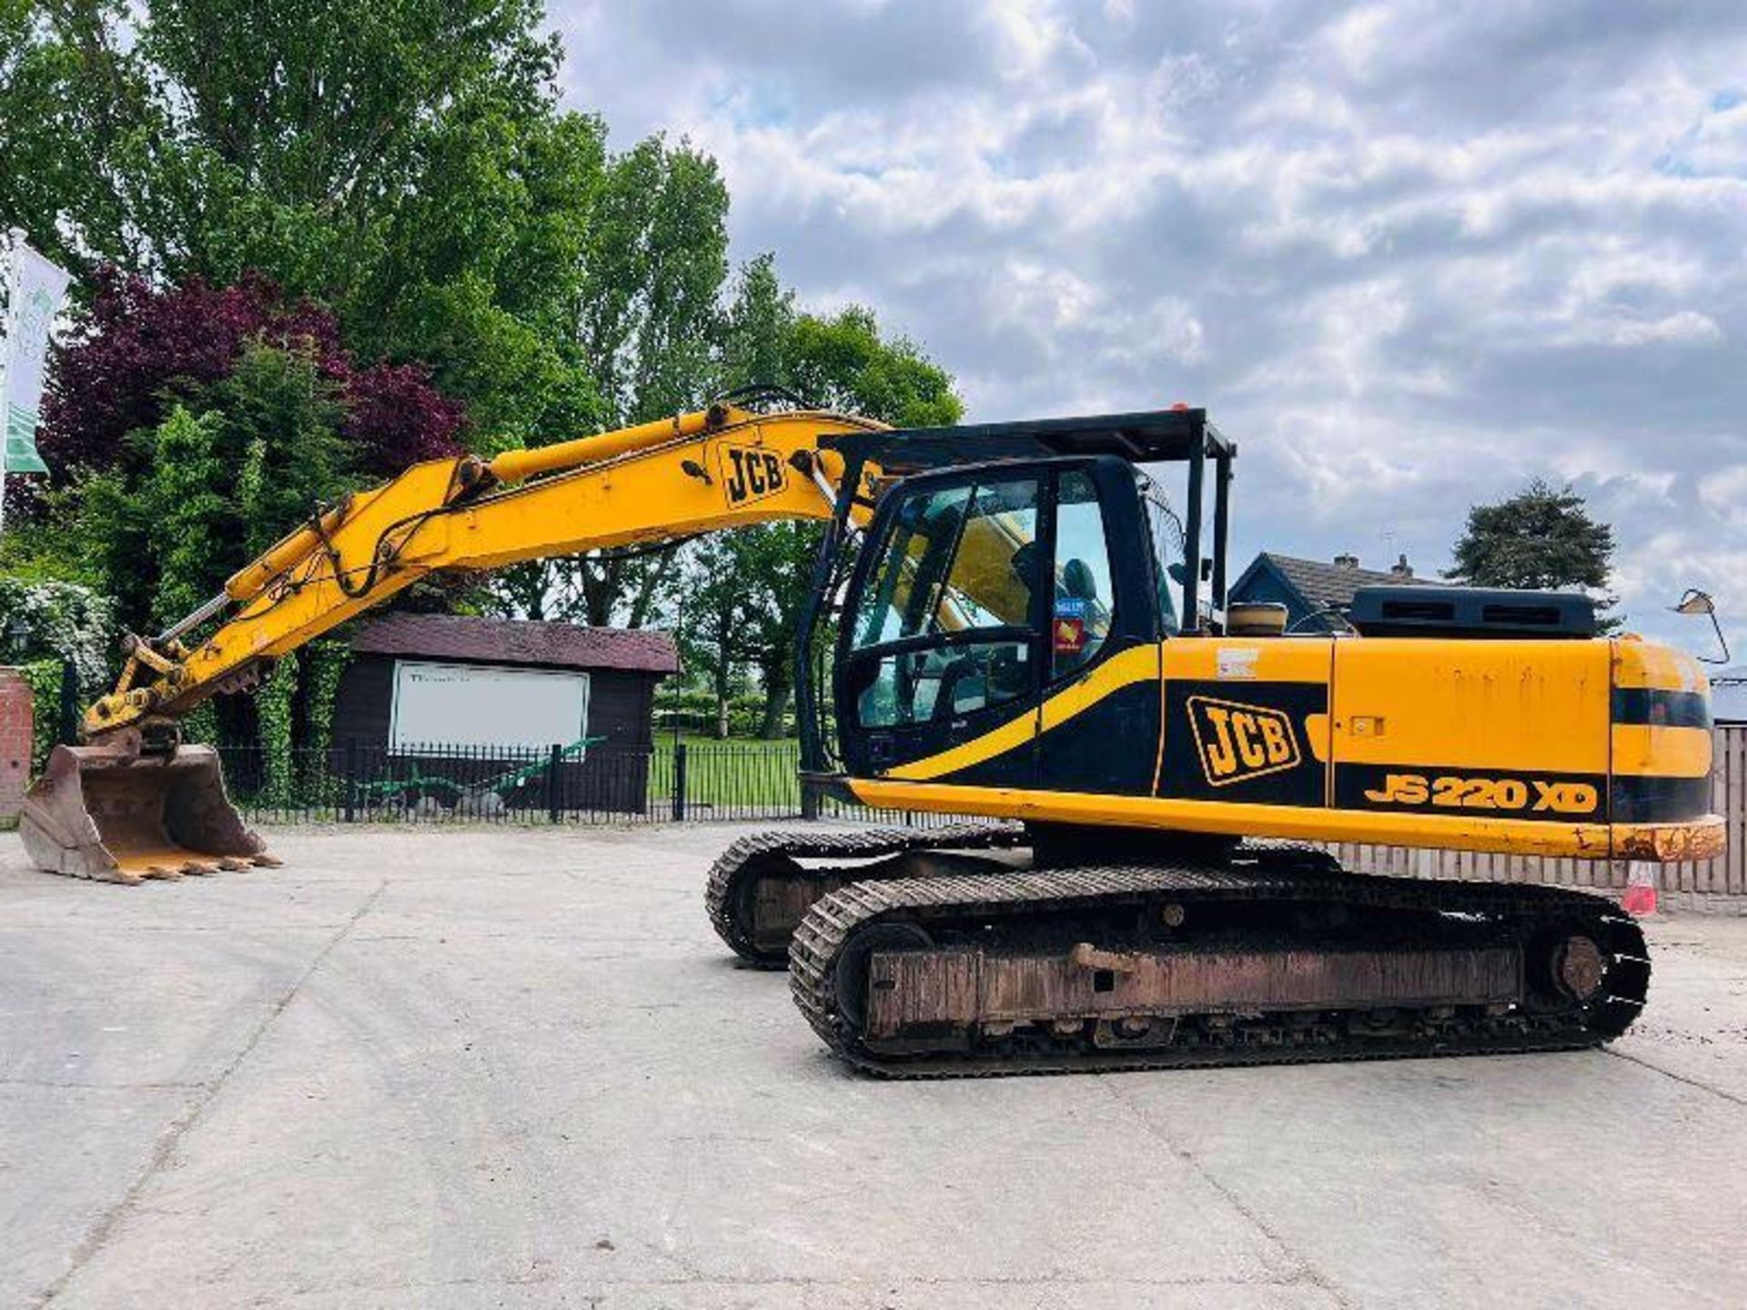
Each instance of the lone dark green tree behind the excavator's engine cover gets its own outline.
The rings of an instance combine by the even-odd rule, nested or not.
[[[1474,505],[1454,555],[1448,578],[1467,587],[1581,589],[1600,597],[1602,611],[1614,604],[1607,596],[1614,529],[1592,519],[1569,486],[1534,479],[1509,500]],[[1621,617],[1602,617],[1604,629],[1619,624]]]

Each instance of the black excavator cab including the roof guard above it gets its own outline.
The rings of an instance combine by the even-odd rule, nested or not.
[[[949,438],[950,433],[950,438]],[[1216,625],[1233,447],[1202,410],[842,438],[896,473],[835,627],[835,744],[849,777],[1146,793],[1157,688],[1095,697],[1038,749],[1043,707]],[[982,458],[980,458],[982,456]],[[975,463],[966,463],[975,461]],[[1184,515],[1143,463],[1188,466]],[[938,468],[935,468],[938,465]],[[1214,475],[1214,550],[1200,501]],[[847,541],[846,541],[847,545]],[[1209,604],[1197,599],[1212,583]]]

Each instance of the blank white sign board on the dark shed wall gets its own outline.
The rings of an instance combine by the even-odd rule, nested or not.
[[[395,660],[388,748],[570,746],[589,735],[589,674]]]

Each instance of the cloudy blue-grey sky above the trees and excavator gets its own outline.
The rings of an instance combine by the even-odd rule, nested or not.
[[[1205,405],[1233,554],[1450,566],[1569,482],[1632,629],[1747,658],[1747,5],[550,0],[615,147],[971,419]]]

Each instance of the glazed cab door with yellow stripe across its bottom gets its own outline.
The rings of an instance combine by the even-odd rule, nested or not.
[[[991,466],[880,507],[839,638],[851,776],[1032,784],[1045,486],[1038,466]]]

